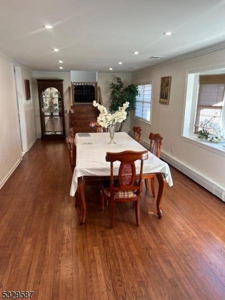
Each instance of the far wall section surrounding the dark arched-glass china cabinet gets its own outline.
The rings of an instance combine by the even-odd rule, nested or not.
[[[32,73],[33,78],[33,93],[35,100],[35,116],[36,116],[36,130],[37,137],[41,137],[40,129],[40,112],[39,112],[39,99],[36,79],[63,79],[63,100],[64,109],[68,108],[68,86],[71,85],[70,72],[38,72]],[[65,114],[65,133],[68,134],[68,115]]]

